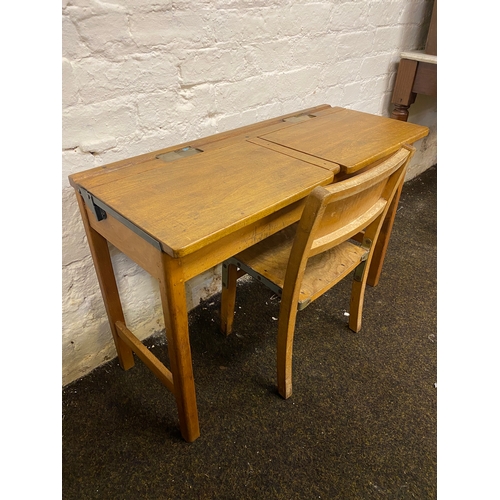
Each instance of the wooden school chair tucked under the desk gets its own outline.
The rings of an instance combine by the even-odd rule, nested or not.
[[[292,393],[292,347],[297,311],[354,271],[349,328],[361,328],[373,249],[384,217],[415,149],[404,145],[378,165],[307,197],[299,222],[226,260],[222,267],[221,330],[232,330],[236,281],[249,274],[281,297],[278,391]]]

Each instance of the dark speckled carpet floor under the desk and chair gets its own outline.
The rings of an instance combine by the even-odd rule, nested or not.
[[[436,498],[436,178],[405,184],[360,333],[344,316],[350,278],[299,313],[290,399],[275,389],[279,304],[256,282],[239,286],[228,338],[220,296],[190,313],[194,443],[140,360],[65,387],[63,498]],[[166,359],[161,337],[146,343]]]

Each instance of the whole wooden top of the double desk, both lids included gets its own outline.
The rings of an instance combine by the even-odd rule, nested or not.
[[[329,184],[337,164],[355,172],[427,133],[322,105],[69,179],[163,251],[183,257]]]

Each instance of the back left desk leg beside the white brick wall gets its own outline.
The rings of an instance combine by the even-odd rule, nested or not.
[[[124,370],[128,370],[134,366],[134,355],[132,349],[120,339],[116,331],[116,322],[122,321],[125,324],[125,318],[123,316],[120,295],[118,294],[113,264],[109,254],[108,242],[90,225],[85,202],[80,193],[76,192],[76,197],[82,215],[83,226],[87,234],[90,253],[94,261],[97,279],[99,280],[104,306],[108,314],[109,326],[111,327],[111,333],[115,341],[118,361]]]

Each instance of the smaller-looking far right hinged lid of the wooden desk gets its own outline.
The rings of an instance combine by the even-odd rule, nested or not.
[[[337,107],[292,127],[262,134],[252,142],[322,158],[351,174],[428,133],[422,125]]]

